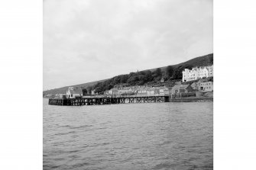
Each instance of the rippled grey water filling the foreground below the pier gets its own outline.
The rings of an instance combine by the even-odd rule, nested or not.
[[[44,169],[212,169],[212,102],[47,102]]]

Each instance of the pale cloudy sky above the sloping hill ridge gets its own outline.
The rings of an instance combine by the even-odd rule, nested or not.
[[[213,53],[212,0],[44,0],[44,90]]]

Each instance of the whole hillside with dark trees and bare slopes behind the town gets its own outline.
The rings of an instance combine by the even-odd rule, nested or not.
[[[105,90],[113,88],[115,85],[157,85],[160,83],[161,78],[164,78],[165,84],[168,82],[173,83],[182,79],[183,69],[191,69],[196,66],[210,66],[212,64],[213,53],[206,56],[199,56],[177,65],[147,69],[141,72],[130,72],[126,75],[117,75],[112,79],[99,80],[96,82],[87,82],[72,86],[74,88],[87,88],[87,90],[89,89],[89,91],[91,89],[96,89],[96,92],[102,93]],[[43,95],[55,95],[57,93],[63,94],[66,93],[67,88],[68,86],[44,91]]]

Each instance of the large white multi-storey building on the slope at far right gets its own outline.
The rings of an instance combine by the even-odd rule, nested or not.
[[[204,67],[193,67],[193,69],[185,69],[182,72],[182,82],[202,79],[204,77],[213,77],[213,65]]]

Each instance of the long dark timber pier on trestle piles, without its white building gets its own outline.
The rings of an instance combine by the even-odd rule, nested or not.
[[[95,98],[50,98],[50,105],[83,106],[99,104],[128,104],[128,103],[163,103],[168,102],[169,96],[141,97],[95,97]]]

